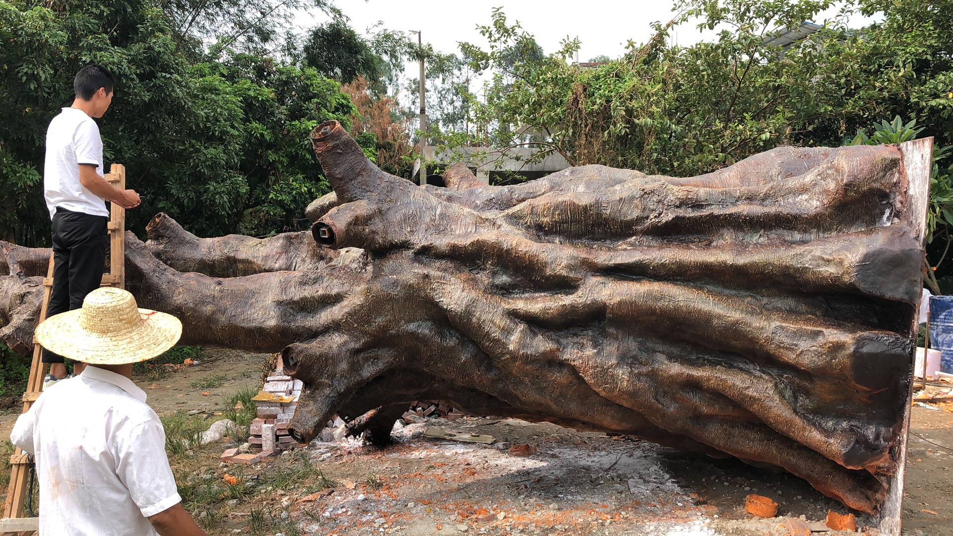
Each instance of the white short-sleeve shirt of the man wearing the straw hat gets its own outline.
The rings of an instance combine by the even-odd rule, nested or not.
[[[87,366],[17,419],[10,441],[33,454],[40,534],[152,536],[148,517],[182,502],[166,434],[132,380]]]

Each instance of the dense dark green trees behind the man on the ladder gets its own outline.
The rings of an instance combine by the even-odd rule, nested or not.
[[[48,242],[46,128],[88,62],[117,79],[99,124],[106,161],[125,164],[129,187],[142,193],[133,230],[165,211],[200,235],[267,235],[295,228],[307,203],[329,191],[307,134],[327,119],[348,124],[354,107],[338,84],[267,55],[190,48],[196,41],[173,30],[167,7],[0,0],[0,237]]]

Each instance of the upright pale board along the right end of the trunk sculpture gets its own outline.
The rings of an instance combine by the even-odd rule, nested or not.
[[[901,143],[898,148],[902,155],[902,171],[907,180],[906,207],[902,215],[902,223],[914,233],[914,236],[925,244],[926,238],[926,211],[929,207],[930,172],[933,159],[933,138],[925,137]],[[920,310],[920,299],[914,305],[913,322],[910,326],[910,337],[915,337],[919,328],[917,311]],[[910,409],[913,398],[913,386],[916,382],[916,371],[913,370],[914,352],[916,345],[910,351],[910,388],[907,389],[906,400],[903,403],[903,417],[900,439],[897,446],[891,449],[891,458],[897,462],[897,472],[887,481],[887,498],[881,508],[881,519],[878,528],[883,536],[900,536],[901,515],[903,512],[903,479],[906,476],[906,442],[910,434]],[[926,356],[923,356],[926,361]]]

